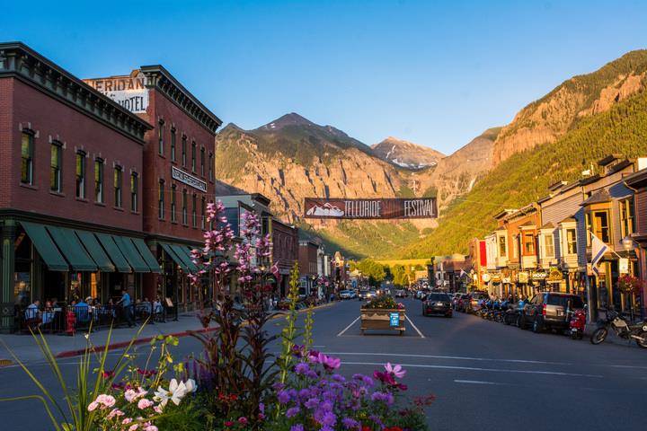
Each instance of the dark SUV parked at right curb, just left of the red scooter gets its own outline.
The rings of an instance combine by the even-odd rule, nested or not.
[[[531,326],[533,332],[566,330],[569,327],[568,310],[582,310],[584,302],[578,295],[542,293],[533,296],[519,317],[519,327]]]

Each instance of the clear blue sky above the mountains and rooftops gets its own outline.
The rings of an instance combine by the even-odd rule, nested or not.
[[[287,112],[451,153],[647,48],[647,2],[3,2],[0,40],[79,77],[162,64],[225,123]]]

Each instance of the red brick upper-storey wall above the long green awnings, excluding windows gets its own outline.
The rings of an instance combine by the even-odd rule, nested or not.
[[[13,118],[6,118],[7,111]],[[36,133],[33,187],[20,182],[21,128],[31,128]],[[49,190],[52,140],[63,143],[61,193]],[[84,200],[75,197],[77,150],[86,154]],[[130,211],[129,179],[130,172],[142,176],[142,145],[11,77],[0,79],[0,154],[3,154],[0,208],[141,230],[141,215]],[[93,163],[96,157],[101,157],[105,163],[104,205],[94,203]],[[123,168],[121,209],[114,208],[113,170],[116,164]],[[140,185],[140,207],[141,203]]]

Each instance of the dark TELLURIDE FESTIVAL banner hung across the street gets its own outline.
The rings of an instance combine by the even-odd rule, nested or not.
[[[306,218],[408,219],[437,218],[436,198],[306,198]]]

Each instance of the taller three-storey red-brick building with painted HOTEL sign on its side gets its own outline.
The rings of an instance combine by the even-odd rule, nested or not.
[[[129,75],[85,80],[153,125],[144,136],[143,230],[162,274],[144,277],[144,295],[170,297],[184,309],[212,295],[187,272],[188,254],[202,244],[207,203],[216,195],[215,136],[222,121],[163,66],[141,66]]]

